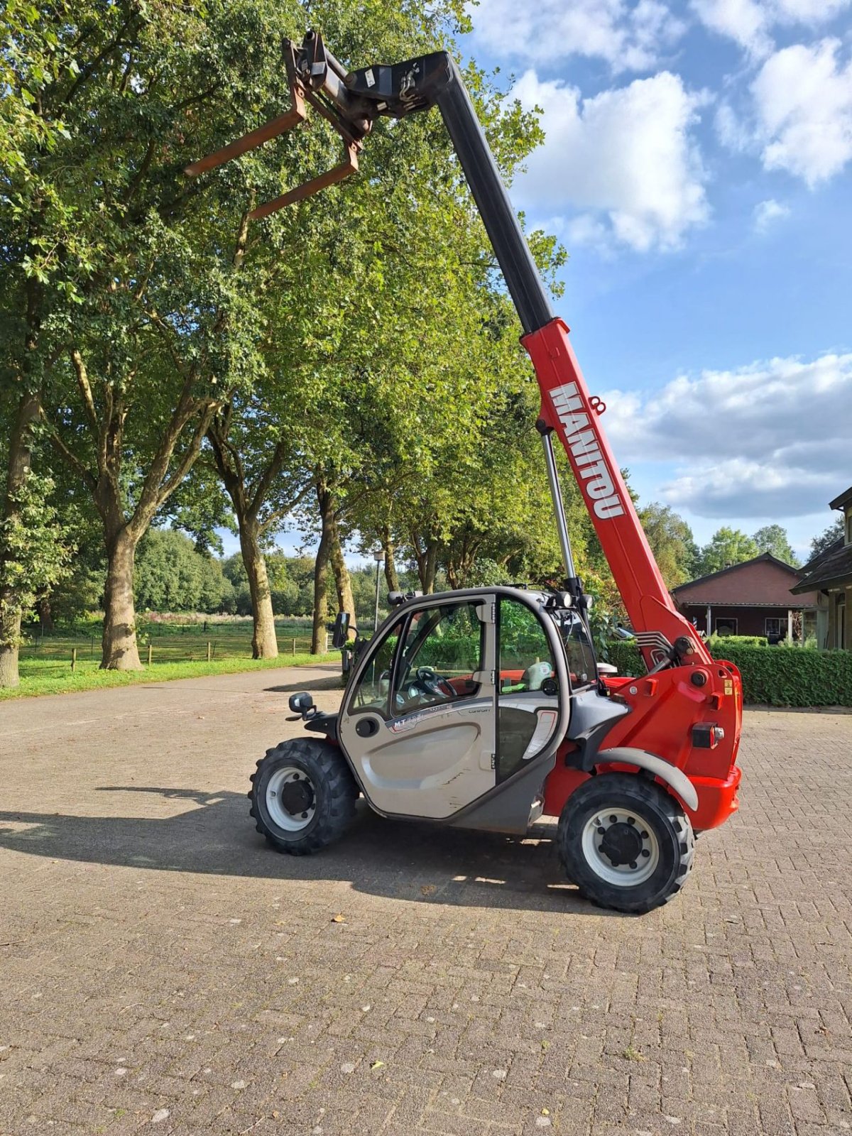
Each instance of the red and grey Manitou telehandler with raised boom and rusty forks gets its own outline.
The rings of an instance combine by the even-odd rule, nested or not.
[[[391,594],[351,669],[340,711],[291,709],[314,736],[267,751],[251,816],[274,847],[316,852],[364,794],[384,817],[523,834],[558,817],[565,870],[595,903],[649,911],[679,891],[694,833],[737,808],[740,674],[676,610],[599,421],[568,328],[554,318],[459,70],[445,51],[348,72],[309,32],[285,41],[292,108],[187,168],[217,166],[315,107],[340,133],[340,166],[260,206],[265,217],[341,181],[374,120],[436,106],[494,248],[541,387],[541,434],[566,579],[560,590]],[[568,454],[648,674],[599,675],[552,436]]]

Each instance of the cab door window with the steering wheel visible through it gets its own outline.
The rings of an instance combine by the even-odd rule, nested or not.
[[[479,693],[484,626],[476,609],[476,603],[436,604],[411,615],[396,662],[394,717]]]

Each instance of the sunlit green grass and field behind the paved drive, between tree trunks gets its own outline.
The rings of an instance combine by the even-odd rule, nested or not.
[[[277,659],[251,658],[251,620],[147,623],[139,632],[143,671],[100,670],[101,628],[93,620],[41,636],[31,634],[20,649],[20,686],[0,690],[0,699],[62,694],[139,682],[167,682],[198,675],[223,675],[268,667],[304,666],[340,659],[339,652],[310,654],[310,620],[275,621]],[[208,645],[209,657],[208,662]],[[150,646],[150,666],[149,660]],[[76,651],[74,670],[72,657]]]

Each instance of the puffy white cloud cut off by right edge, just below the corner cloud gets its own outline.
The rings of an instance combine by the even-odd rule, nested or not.
[[[810,186],[852,158],[852,61],[841,66],[840,47],[828,39],[784,48],[752,83],[763,165]]]

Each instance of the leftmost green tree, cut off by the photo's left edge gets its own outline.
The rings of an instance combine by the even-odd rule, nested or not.
[[[22,619],[40,590],[60,578],[66,559],[49,481],[35,466],[45,375],[56,345],[44,334],[44,281],[33,270],[45,248],[53,202],[37,164],[61,145],[61,115],[42,112],[41,91],[66,70],[50,20],[35,5],[0,12],[0,686],[18,684]],[[39,454],[41,457],[41,454]]]

